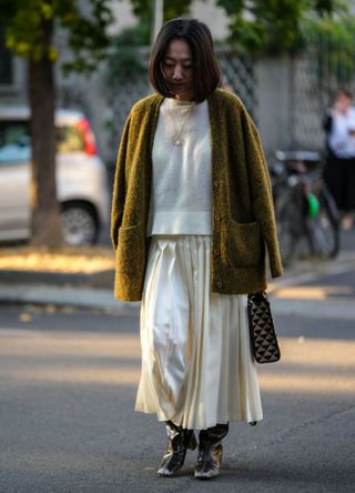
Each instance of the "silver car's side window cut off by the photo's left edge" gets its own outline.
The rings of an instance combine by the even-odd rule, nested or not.
[[[0,121],[0,164],[29,161],[31,139],[27,122]]]

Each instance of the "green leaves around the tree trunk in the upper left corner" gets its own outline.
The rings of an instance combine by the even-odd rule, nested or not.
[[[109,0],[0,0],[0,6],[7,47],[21,57],[57,61],[58,48],[43,38],[43,21],[50,20],[54,29],[68,32],[72,59],[67,69],[90,71],[104,57],[110,42],[106,28],[113,20]]]

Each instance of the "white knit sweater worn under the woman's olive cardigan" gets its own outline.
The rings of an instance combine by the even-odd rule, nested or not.
[[[173,143],[176,134],[180,134],[181,145]],[[207,102],[194,104],[165,99],[160,108],[153,143],[148,235],[212,234],[211,215],[212,160]]]

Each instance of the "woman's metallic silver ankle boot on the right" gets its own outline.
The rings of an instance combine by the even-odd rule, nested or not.
[[[211,480],[221,474],[222,440],[229,432],[229,424],[216,424],[207,430],[201,430],[199,435],[199,453],[195,466],[195,477]]]

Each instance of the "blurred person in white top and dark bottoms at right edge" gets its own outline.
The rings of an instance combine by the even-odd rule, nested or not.
[[[344,230],[353,228],[355,210],[355,108],[352,99],[347,89],[339,89],[324,122],[327,143],[324,179],[343,213]]]

